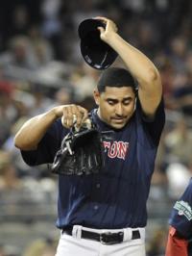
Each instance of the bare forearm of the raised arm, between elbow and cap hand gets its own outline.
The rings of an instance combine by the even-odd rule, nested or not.
[[[108,44],[119,54],[140,86],[145,84],[150,86],[159,79],[155,64],[118,34],[111,33]]]

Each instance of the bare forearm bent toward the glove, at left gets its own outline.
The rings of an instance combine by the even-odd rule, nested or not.
[[[29,119],[15,135],[14,145],[22,150],[36,149],[38,142],[57,118],[53,109]]]

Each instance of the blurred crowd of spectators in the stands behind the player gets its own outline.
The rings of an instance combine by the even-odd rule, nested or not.
[[[100,71],[84,64],[77,29],[84,18],[97,15],[113,19],[120,35],[160,71],[167,120],[149,200],[174,202],[180,196],[192,174],[191,12],[189,0],[2,1],[0,221],[24,218],[18,205],[29,209],[30,204],[56,203],[57,177],[49,166],[25,165],[13,137],[29,117],[56,105],[78,103],[88,110],[95,106],[92,90]],[[117,58],[113,65],[123,64]],[[163,255],[165,240],[166,230],[156,228],[148,239],[148,256]],[[0,256],[20,256],[7,245],[0,241]],[[42,238],[22,255],[53,256],[54,249],[55,238]]]

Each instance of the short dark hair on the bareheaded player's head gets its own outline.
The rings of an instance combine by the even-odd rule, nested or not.
[[[136,93],[137,86],[132,74],[125,68],[110,67],[103,71],[99,78],[97,89],[99,92],[104,92],[106,87],[131,87]]]

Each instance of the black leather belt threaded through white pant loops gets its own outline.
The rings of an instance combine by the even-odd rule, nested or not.
[[[62,233],[72,236],[73,227],[62,229]],[[92,231],[82,230],[82,238],[98,241],[105,244],[122,243],[124,238],[124,232],[117,233],[95,233]],[[138,230],[132,230],[132,240],[140,239],[140,232]]]

